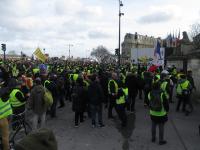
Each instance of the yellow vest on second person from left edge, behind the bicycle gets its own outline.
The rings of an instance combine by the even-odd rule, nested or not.
[[[12,90],[12,92],[10,93],[10,98],[9,98],[9,101],[10,101],[10,104],[11,104],[12,107],[20,107],[20,106],[26,104],[26,102],[20,102],[16,98],[15,95],[16,95],[17,92],[20,92],[22,94],[22,96],[24,97],[24,94],[19,89]]]

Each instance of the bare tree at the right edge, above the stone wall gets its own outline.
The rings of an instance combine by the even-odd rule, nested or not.
[[[195,23],[191,26],[190,34],[195,48],[200,48],[200,23]]]

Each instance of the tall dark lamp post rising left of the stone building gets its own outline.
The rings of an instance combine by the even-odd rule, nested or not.
[[[118,67],[120,67],[120,52],[121,52],[121,16],[124,13],[121,12],[121,7],[123,7],[123,3],[119,0],[119,51],[118,51]]]

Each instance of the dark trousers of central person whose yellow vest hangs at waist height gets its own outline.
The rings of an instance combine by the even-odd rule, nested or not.
[[[125,110],[125,104],[120,104],[115,106],[116,112],[119,116],[119,119],[122,122],[122,126],[125,127],[127,125],[127,116]]]

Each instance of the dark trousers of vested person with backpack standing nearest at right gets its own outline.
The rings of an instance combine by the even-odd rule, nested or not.
[[[156,123],[154,121],[152,121],[152,128],[151,128],[152,139],[156,139],[157,125],[159,127],[159,141],[163,141],[164,140],[164,123]]]

